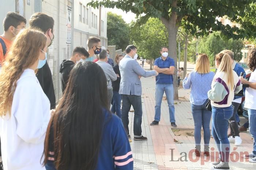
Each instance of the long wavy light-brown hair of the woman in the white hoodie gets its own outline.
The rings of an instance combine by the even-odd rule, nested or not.
[[[14,40],[0,72],[0,116],[11,111],[17,81],[26,68],[38,60],[46,45],[46,36],[37,30],[25,29]]]

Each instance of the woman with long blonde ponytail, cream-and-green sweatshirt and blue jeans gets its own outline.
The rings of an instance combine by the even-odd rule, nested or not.
[[[211,170],[229,170],[230,144],[227,137],[228,120],[233,114],[234,94],[242,90],[242,84],[231,67],[228,54],[219,53],[215,57],[216,75],[208,91],[212,106],[212,137],[219,151],[219,160],[212,163]]]

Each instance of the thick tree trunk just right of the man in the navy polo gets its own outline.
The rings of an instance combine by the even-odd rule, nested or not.
[[[175,71],[173,74],[173,87],[174,87],[174,100],[178,100],[178,84],[177,84],[177,28],[175,23],[169,21],[168,33],[168,46],[169,46],[169,56],[174,59]]]

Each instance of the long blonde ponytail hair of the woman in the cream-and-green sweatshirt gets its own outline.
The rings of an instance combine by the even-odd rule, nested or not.
[[[231,58],[229,54],[219,53],[216,55],[215,60],[219,63],[218,72],[225,72],[227,78],[227,86],[230,90],[234,87],[234,76],[231,66]]]

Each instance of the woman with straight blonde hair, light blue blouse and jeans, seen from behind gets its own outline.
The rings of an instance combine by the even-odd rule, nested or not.
[[[185,89],[191,88],[190,103],[195,124],[195,154],[200,157],[201,153],[201,129],[204,130],[204,154],[210,156],[209,143],[211,138],[210,120],[211,111],[206,110],[208,102],[207,92],[211,90],[211,82],[214,72],[210,71],[210,61],[206,54],[199,54],[195,70],[188,73],[183,80]]]

